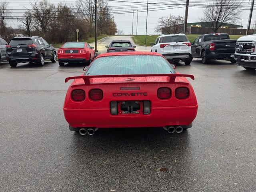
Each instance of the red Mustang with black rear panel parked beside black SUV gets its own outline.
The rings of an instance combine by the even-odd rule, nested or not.
[[[59,65],[68,63],[88,63],[94,59],[94,47],[86,42],[68,42],[58,50]]]

